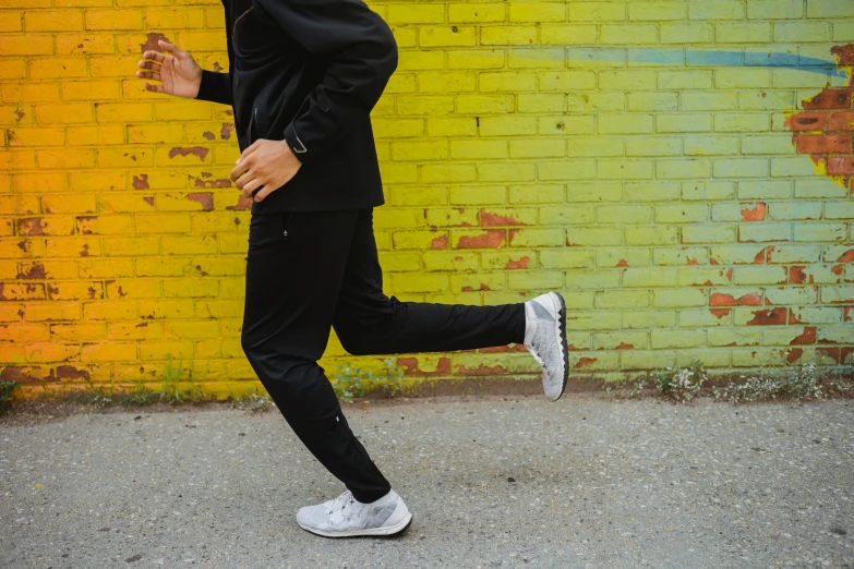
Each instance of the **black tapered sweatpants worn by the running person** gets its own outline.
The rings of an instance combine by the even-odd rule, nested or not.
[[[290,427],[361,503],[389,489],[317,364],[335,327],[354,355],[521,343],[522,303],[400,302],[383,293],[373,209],[253,215],[241,346]]]

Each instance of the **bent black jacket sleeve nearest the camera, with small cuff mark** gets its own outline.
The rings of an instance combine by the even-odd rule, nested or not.
[[[362,0],[255,0],[255,7],[328,63],[284,132],[304,164],[370,114],[397,68],[397,44]]]

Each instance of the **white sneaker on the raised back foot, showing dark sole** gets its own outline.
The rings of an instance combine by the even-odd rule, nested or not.
[[[557,401],[569,376],[566,303],[558,293],[541,294],[525,303],[525,347],[543,367],[545,397]]]

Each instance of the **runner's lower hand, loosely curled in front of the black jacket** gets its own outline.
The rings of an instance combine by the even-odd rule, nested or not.
[[[290,182],[301,166],[287,142],[258,138],[243,150],[229,178],[244,197],[252,197],[252,192],[263,185],[253,198],[261,202]]]

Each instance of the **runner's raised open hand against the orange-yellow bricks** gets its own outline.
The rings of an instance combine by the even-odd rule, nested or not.
[[[202,84],[202,68],[195,62],[193,56],[178,46],[164,39],[158,39],[157,45],[175,57],[164,56],[154,50],[143,52],[143,59],[140,60],[137,66],[151,71],[137,71],[136,76],[160,82],[160,85],[145,83],[145,90],[166,93],[188,99],[195,98],[199,95],[199,86]]]

